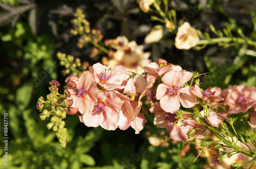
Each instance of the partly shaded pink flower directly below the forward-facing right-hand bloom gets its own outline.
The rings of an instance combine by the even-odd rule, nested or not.
[[[170,138],[179,142],[186,141],[188,139],[187,132],[196,125],[196,121],[189,118],[178,120],[174,112],[164,111],[159,104],[151,107],[150,111],[155,113],[154,124],[161,128],[165,127],[169,131]]]

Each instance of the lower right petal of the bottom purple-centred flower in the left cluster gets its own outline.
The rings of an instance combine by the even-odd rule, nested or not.
[[[106,130],[115,130],[119,119],[119,112],[116,109],[106,107],[103,116],[99,120],[99,125]]]

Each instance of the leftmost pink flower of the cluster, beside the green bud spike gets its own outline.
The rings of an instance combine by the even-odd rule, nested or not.
[[[70,105],[72,108],[70,113],[74,114],[73,111],[78,108],[80,114],[88,115],[98,99],[97,94],[99,92],[93,74],[85,71],[79,79],[76,76],[70,76],[66,79],[66,82],[71,87],[68,89],[70,97],[67,100],[70,100],[70,103],[73,102]]]

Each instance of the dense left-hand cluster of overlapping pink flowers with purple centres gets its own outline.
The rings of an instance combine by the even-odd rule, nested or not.
[[[140,112],[141,97],[147,86],[143,75],[133,76],[123,66],[94,64],[80,78],[70,76],[65,87],[70,93],[69,114],[79,116],[88,127],[101,126],[106,130],[132,126],[136,133],[143,129],[145,118]]]

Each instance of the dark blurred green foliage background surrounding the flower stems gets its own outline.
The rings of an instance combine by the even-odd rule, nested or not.
[[[168,132],[153,124],[154,116],[147,114],[147,124],[140,134],[132,128],[125,131],[106,131],[88,128],[76,115],[66,118],[67,147],[62,148],[55,133],[48,130],[47,121],[40,121],[36,102],[46,97],[49,81],[56,79],[65,85],[64,66],[57,52],[73,55],[81,63],[93,65],[107,54],[90,57],[94,46],[78,47],[79,35],[71,34],[71,20],[81,9],[91,23],[100,30],[103,39],[124,35],[151,52],[150,60],[162,58],[183,69],[200,73],[210,72],[204,79],[205,89],[228,85],[256,85],[255,51],[249,45],[216,44],[201,50],[179,50],[174,46],[176,35],[164,29],[164,37],[156,43],[145,44],[144,38],[156,25],[154,12],[144,13],[138,1],[0,1],[0,168],[214,168],[206,158],[195,158],[195,143],[190,148],[168,138]],[[245,36],[256,39],[256,5],[254,1],[168,1],[168,9],[176,10],[177,20],[187,21],[202,32],[210,32],[209,25],[223,30],[230,26],[234,34],[241,28]],[[210,33],[214,38],[214,34]],[[221,66],[226,73],[215,74]],[[211,81],[210,81],[211,80]],[[224,82],[225,81],[225,82]],[[210,84],[210,86],[209,86]],[[60,93],[63,89],[59,88]],[[8,165],[4,164],[4,114],[8,114]],[[150,138],[150,142],[149,139]],[[154,143],[160,143],[154,145]],[[215,161],[218,163],[217,161]]]

